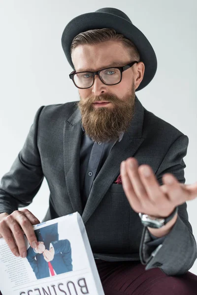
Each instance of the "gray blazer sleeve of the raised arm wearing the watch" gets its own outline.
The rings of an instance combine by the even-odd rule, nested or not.
[[[187,154],[188,137],[181,135],[168,149],[156,172],[156,177],[162,185],[165,173],[173,174],[181,183],[185,183],[183,158]],[[166,275],[181,275],[186,273],[197,259],[197,243],[193,235],[192,226],[188,220],[187,203],[178,206],[178,217],[171,231],[164,241],[155,247],[148,243],[151,236],[147,227],[143,228],[140,241],[140,261],[146,265],[145,269],[159,267]]]

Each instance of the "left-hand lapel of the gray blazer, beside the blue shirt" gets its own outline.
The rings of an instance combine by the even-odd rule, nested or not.
[[[66,188],[74,212],[78,211],[80,215],[83,210],[79,186],[81,135],[81,113],[77,109],[68,120],[65,120],[63,145]]]

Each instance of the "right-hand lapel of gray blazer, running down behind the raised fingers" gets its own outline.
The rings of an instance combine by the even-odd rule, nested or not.
[[[121,162],[129,157],[132,157],[144,141],[144,138],[141,137],[144,108],[136,96],[135,99],[135,113],[131,121],[131,125],[125,132],[122,140],[117,142],[112,148],[106,161],[100,169],[98,176],[93,182],[90,195],[82,214],[84,223],[86,223],[94,213],[110,185],[120,173]]]

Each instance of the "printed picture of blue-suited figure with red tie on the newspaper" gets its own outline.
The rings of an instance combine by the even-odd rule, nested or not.
[[[38,245],[27,250],[27,259],[37,279],[72,271],[71,246],[59,240],[58,223],[35,230]]]

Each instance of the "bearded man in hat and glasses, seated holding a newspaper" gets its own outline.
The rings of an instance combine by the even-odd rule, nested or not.
[[[106,295],[195,294],[186,201],[197,185],[184,184],[188,137],[135,95],[156,73],[151,44],[124,12],[102,8],[71,20],[62,45],[80,101],[38,109],[2,177],[0,234],[16,256],[26,257],[20,227],[36,247],[31,225],[39,221],[18,207],[46,177],[44,221],[82,215]]]

